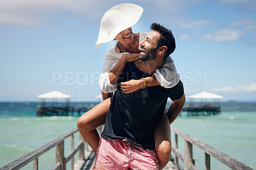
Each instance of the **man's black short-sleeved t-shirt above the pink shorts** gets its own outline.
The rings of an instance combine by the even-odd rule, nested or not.
[[[129,94],[120,89],[120,82],[147,77],[129,62],[117,82],[117,90],[109,107],[102,137],[111,141],[128,139],[145,149],[154,149],[154,131],[163,118],[168,97],[178,100],[184,93],[181,81],[173,88],[151,86]]]

